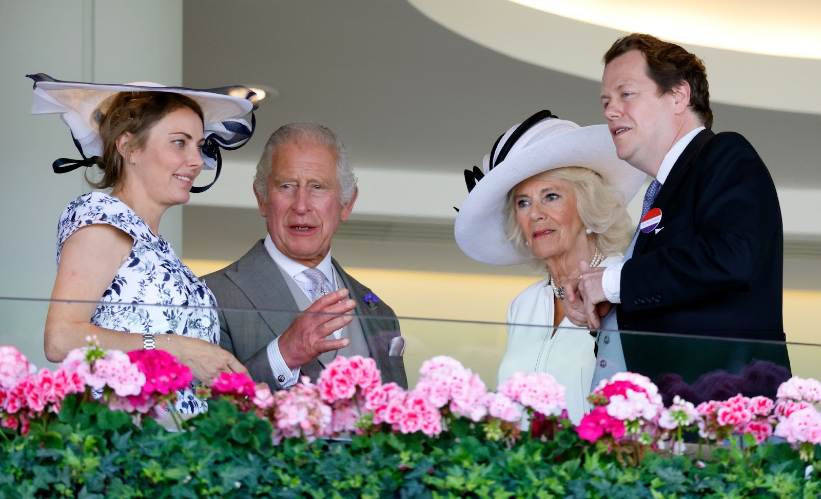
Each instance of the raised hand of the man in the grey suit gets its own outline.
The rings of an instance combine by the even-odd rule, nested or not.
[[[355,308],[356,302],[344,300],[347,295],[348,290],[342,289],[314,301],[305,309],[308,314],[298,315],[291,327],[279,336],[279,351],[289,369],[308,364],[325,352],[348,346],[347,338],[326,339],[353,320],[348,313]]]

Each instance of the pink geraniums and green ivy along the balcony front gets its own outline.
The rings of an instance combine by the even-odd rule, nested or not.
[[[167,405],[174,383],[152,385],[157,373],[144,354],[131,364],[147,380],[140,391],[118,395],[106,382],[95,400],[85,384],[56,400],[38,388],[37,379],[48,376],[27,374],[3,348],[0,497],[821,496],[821,446],[811,442],[821,424],[814,415],[795,416],[813,414],[807,399],[814,380],[785,383],[770,401],[771,414],[754,414],[754,403],[743,398],[699,413],[683,401],[663,407],[646,378],[622,373],[591,396],[604,408],[594,416],[599,426],[588,419],[577,432],[561,418],[563,389],[546,375],[522,375],[491,393],[453,359],[437,358],[423,366],[420,386],[403,393],[374,378],[367,359],[338,359],[316,385],[273,394],[223,375],[211,387],[209,412],[176,420],[183,431],[168,431],[143,401],[154,396]],[[85,355],[108,354],[92,347]],[[93,364],[86,376],[100,375]],[[167,359],[163,366],[173,368]],[[63,368],[63,378],[82,371]],[[26,377],[33,378],[25,395],[39,396],[42,407],[16,401],[11,412],[9,394]],[[153,394],[142,390],[148,385]],[[129,396],[140,403],[122,410]],[[523,414],[530,423],[521,423]],[[759,435],[745,431],[754,421],[793,442],[757,443]],[[727,437],[732,444],[714,448],[709,459],[674,455],[680,433],[695,431],[707,442]]]

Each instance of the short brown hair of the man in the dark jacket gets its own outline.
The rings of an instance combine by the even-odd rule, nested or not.
[[[704,62],[676,43],[664,42],[651,34],[632,33],[622,36],[604,54],[604,66],[631,50],[644,54],[648,75],[662,94],[672,91],[681,80],[690,84],[690,107],[701,117],[704,126],[713,127],[710,92]]]

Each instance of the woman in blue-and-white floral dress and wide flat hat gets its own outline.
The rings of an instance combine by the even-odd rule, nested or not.
[[[167,350],[205,382],[220,372],[247,373],[219,347],[211,291],[158,228],[167,208],[210,186],[193,186],[204,167],[216,167],[219,175],[220,147],[236,149],[250,139],[253,126],[241,117],[255,109],[255,94],[239,86],[195,90],[30,78],[32,113],[59,114],[83,157],[58,159],[54,171],[96,164],[102,178],[89,184],[111,189],[81,195],[60,217],[46,357],[58,362],[97,336],[103,348]],[[178,393],[177,412],[206,409],[190,388]]]

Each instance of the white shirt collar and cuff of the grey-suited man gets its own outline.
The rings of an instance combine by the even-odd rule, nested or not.
[[[271,255],[274,263],[277,263],[279,268],[282,268],[289,276],[293,278],[296,282],[297,286],[300,286],[300,289],[305,292],[305,295],[309,298],[311,297],[311,291],[314,289],[314,283],[310,281],[310,279],[305,276],[304,273],[305,269],[309,268],[303,265],[302,263],[295,262],[294,260],[288,258],[286,255],[282,254],[282,251],[277,249],[277,246],[273,244],[273,240],[271,240],[271,236],[265,236],[265,249],[268,251],[268,254]],[[325,255],[325,258],[319,262],[319,265],[316,266],[319,270],[323,273],[325,278],[331,284],[331,291],[337,291],[339,286],[337,284],[337,279],[334,277],[333,272],[333,263],[331,263],[331,251],[328,250],[328,254]],[[340,332],[336,331],[333,333],[332,336],[334,338],[339,338]],[[273,373],[273,378],[277,380],[280,387],[287,388],[295,385],[296,382],[300,378],[300,368],[288,369],[288,364],[285,363],[285,359],[282,359],[282,354],[279,352],[279,338],[281,336],[277,336],[274,338],[273,341],[268,343],[268,364],[271,364],[271,372]],[[279,380],[284,378],[285,381],[280,382]]]

